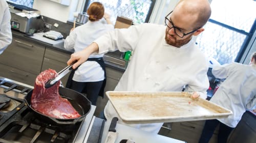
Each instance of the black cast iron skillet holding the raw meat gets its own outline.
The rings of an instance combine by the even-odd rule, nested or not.
[[[27,96],[24,97],[25,102],[27,103],[27,106],[35,113],[35,116],[37,116],[37,119],[49,123],[52,125],[74,125],[77,122],[81,122],[84,117],[90,112],[91,110],[91,102],[83,96],[81,93],[73,91],[71,89],[62,88],[59,87],[59,94],[62,98],[67,98],[72,106],[78,111],[78,113],[81,115],[79,118],[75,119],[57,119],[53,118],[47,115],[44,115],[31,106],[31,96],[32,96],[33,90],[31,90]]]

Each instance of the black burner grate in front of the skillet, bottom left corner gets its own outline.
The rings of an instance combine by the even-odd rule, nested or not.
[[[0,142],[68,142],[74,140],[79,124],[54,126],[34,116],[27,106],[0,126]]]

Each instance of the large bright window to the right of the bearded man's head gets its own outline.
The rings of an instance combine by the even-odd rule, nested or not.
[[[239,62],[255,33],[256,2],[213,0],[211,17],[197,42],[202,51],[220,64]]]

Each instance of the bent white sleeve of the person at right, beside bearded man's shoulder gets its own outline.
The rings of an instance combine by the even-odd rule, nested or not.
[[[212,67],[211,72],[216,78],[224,79],[228,76],[227,74],[230,66],[230,64],[215,65],[214,67]]]

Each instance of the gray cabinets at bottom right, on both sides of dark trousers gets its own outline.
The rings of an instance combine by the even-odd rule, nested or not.
[[[246,111],[237,125],[230,133],[227,143],[252,143],[256,140],[256,117]],[[189,122],[174,122],[164,123],[159,134],[184,140],[188,143],[197,143],[201,136],[205,121],[189,121]],[[214,131],[209,143],[218,142],[219,127]]]

